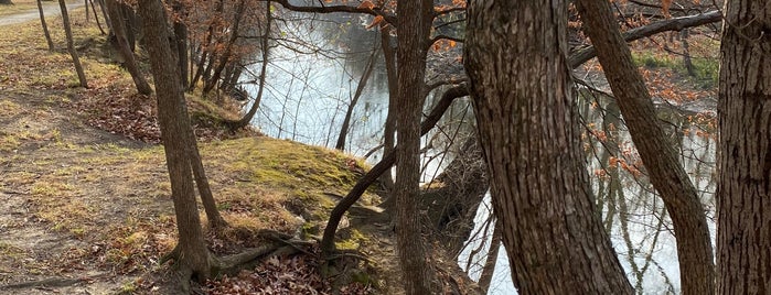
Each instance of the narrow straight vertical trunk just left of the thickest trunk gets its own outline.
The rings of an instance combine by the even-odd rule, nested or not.
[[[418,210],[420,188],[420,116],[426,85],[426,54],[431,29],[432,0],[398,0],[396,30],[398,96],[396,99],[396,241],[407,294],[431,294],[435,274],[421,231]]]

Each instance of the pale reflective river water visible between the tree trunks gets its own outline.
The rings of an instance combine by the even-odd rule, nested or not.
[[[379,36],[375,31],[367,31],[363,24],[371,20],[364,17],[345,14],[312,17],[282,12],[281,22],[272,30],[278,31],[281,40],[271,47],[267,68],[266,89],[259,111],[253,125],[265,134],[299,141],[313,145],[333,148],[345,110],[356,89],[373,48],[378,48]],[[293,18],[303,18],[301,21]],[[298,46],[299,45],[299,46]],[[254,75],[259,75],[259,64],[253,66]],[[244,77],[246,80],[256,77]],[[256,85],[245,86],[254,96]],[[601,86],[600,86],[601,88]],[[639,293],[666,294],[678,293],[679,276],[674,237],[671,221],[663,210],[663,204],[653,194],[651,185],[644,177],[644,171],[635,174],[625,170],[609,167],[611,162],[633,164],[639,159],[632,152],[628,132],[620,124],[618,110],[611,99],[590,96],[581,91],[582,98],[577,102],[587,130],[604,127],[608,134],[615,139],[609,146],[607,142],[587,136],[586,151],[592,188],[597,194],[598,208],[603,222],[619,254],[630,281],[639,287]],[[429,99],[430,101],[430,99]],[[387,114],[388,89],[383,58],[378,59],[375,70],[364,89],[363,96],[353,113],[349,132],[346,152],[364,155],[378,146],[383,138],[383,124]],[[430,102],[427,103],[430,106]],[[705,107],[699,107],[704,109]],[[707,212],[714,217],[713,193],[715,141],[708,135],[709,130],[693,123],[688,117],[695,116],[686,108],[660,107],[660,117],[670,125],[673,141],[682,153],[681,161],[689,172],[692,179],[702,192]],[[458,102],[452,114],[446,116],[447,125],[462,125],[470,119],[468,102]],[[603,125],[604,122],[604,125]],[[608,122],[615,122],[608,125]],[[450,136],[454,132],[442,130],[429,134],[426,139]],[[590,133],[590,132],[587,132]],[[437,135],[438,134],[438,135]],[[606,134],[606,135],[608,135]],[[424,144],[428,140],[424,140]],[[438,141],[449,142],[449,140]],[[436,146],[436,145],[435,145]],[[424,156],[425,179],[429,179],[448,163],[452,155],[437,156],[433,149]],[[381,153],[368,159],[376,163]],[[440,162],[443,160],[443,162]],[[602,168],[606,172],[601,172]],[[613,187],[619,189],[612,189]],[[471,249],[480,243],[489,243],[490,232],[481,229],[490,216],[489,199],[480,206],[476,215],[479,237],[472,237],[469,247],[461,253],[459,264],[472,277],[478,277],[486,250],[470,256]],[[714,220],[710,219],[714,229]],[[486,245],[482,245],[485,248]],[[469,263],[471,260],[471,263]],[[493,283],[489,294],[515,294],[511,282],[511,270],[503,248],[499,254]]]

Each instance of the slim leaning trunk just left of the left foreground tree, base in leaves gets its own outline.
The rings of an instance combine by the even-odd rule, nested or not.
[[[131,52],[128,39],[126,37],[127,34],[133,34],[133,32],[126,31],[125,21],[122,18],[122,9],[120,8],[120,6],[122,4],[119,4],[116,0],[105,0],[105,4],[107,6],[107,12],[110,17],[109,20],[113,28],[113,35],[115,35],[115,40],[117,43],[117,50],[124,57],[124,66],[129,72],[129,74],[131,74],[131,79],[133,79],[133,85],[137,87],[137,91],[143,96],[152,95],[152,88],[150,88],[150,85],[147,83],[144,76],[139,70],[137,62],[133,58],[133,52]]]

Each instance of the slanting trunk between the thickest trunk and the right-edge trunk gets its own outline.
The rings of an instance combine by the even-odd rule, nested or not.
[[[619,33],[610,4],[597,0],[576,3],[651,184],[672,218],[682,292],[685,295],[713,294],[715,265],[704,208],[677,151],[657,123],[651,95]]]

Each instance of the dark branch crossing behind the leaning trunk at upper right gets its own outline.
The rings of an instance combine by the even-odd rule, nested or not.
[[[720,11],[714,10],[704,14],[674,18],[664,21],[653,22],[649,25],[643,25],[629,30],[622,34],[624,41],[632,42],[643,37],[652,36],[657,33],[666,31],[681,31],[686,28],[699,26],[708,23],[719,22],[722,20],[722,14]],[[593,58],[597,55],[595,52],[595,46],[588,46],[578,52],[571,54],[568,57],[568,63],[571,68],[577,68],[587,61]]]

